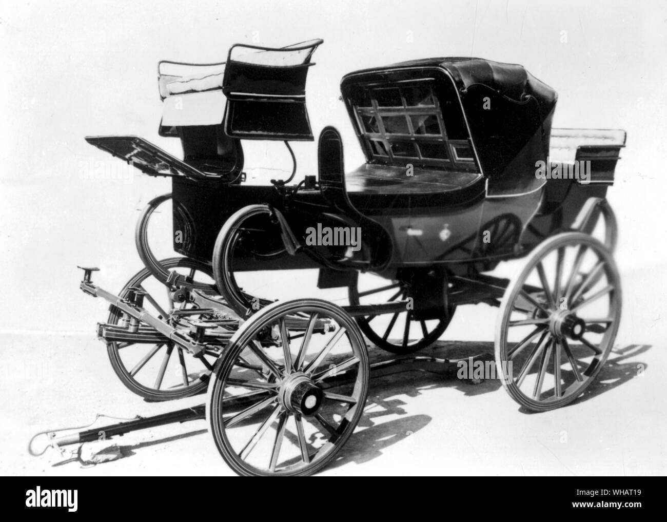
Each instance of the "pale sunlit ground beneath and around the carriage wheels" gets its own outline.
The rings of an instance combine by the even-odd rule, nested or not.
[[[625,274],[626,305],[639,289],[643,298],[659,302],[662,295],[650,282],[665,276],[665,269]],[[468,340],[448,343],[450,349],[438,354],[461,358],[492,351],[489,342],[470,341],[480,336],[470,332],[470,324],[486,330],[495,312],[485,305],[458,310],[443,338]],[[596,382],[574,404],[548,413],[523,411],[498,380],[474,386],[414,371],[372,379],[356,433],[321,474],[664,475],[667,397],[659,368],[667,363],[667,332],[658,318],[626,306],[617,347]],[[204,421],[94,443],[97,449],[121,445],[129,456],[93,467],[51,450],[29,457],[27,441],[37,431],[87,425],[95,413],[155,415],[199,404],[205,395],[176,403],[143,402],[117,380],[93,334],[5,335],[2,345],[5,392],[0,408],[3,425],[12,429],[5,431],[1,473],[231,474]],[[95,427],[113,422],[100,419]]]

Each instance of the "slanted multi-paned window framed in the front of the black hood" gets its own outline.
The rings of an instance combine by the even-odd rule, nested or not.
[[[359,84],[351,94],[362,140],[374,161],[477,170],[468,130],[459,121],[462,115],[440,105],[434,81]]]

